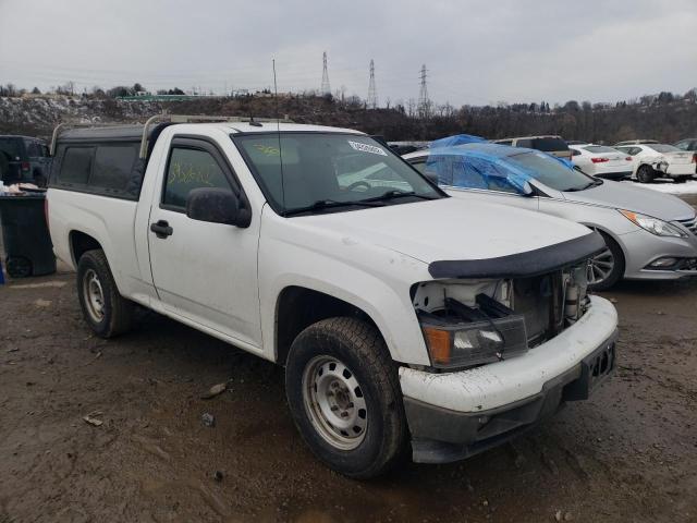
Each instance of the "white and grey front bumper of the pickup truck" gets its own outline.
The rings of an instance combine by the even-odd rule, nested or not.
[[[617,316],[591,296],[575,325],[525,355],[458,373],[400,369],[413,459],[462,460],[583,400],[614,369]]]

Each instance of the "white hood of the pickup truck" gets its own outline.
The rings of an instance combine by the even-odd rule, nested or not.
[[[426,264],[511,256],[590,232],[578,223],[540,212],[452,197],[292,220],[302,220],[323,239],[386,248]],[[315,247],[325,243],[332,248],[325,241],[316,242]]]

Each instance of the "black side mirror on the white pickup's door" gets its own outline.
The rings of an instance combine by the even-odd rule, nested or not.
[[[252,215],[240,198],[224,188],[194,188],[186,197],[186,216],[192,220],[248,227]]]

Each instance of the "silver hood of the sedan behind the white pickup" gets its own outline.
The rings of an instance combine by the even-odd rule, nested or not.
[[[563,195],[568,202],[632,210],[664,221],[687,220],[695,216],[695,209],[676,196],[626,182],[604,180],[602,185]]]

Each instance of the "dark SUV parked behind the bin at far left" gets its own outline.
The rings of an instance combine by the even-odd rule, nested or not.
[[[29,182],[45,187],[50,166],[46,142],[28,136],[0,135],[0,180],[5,185]]]

